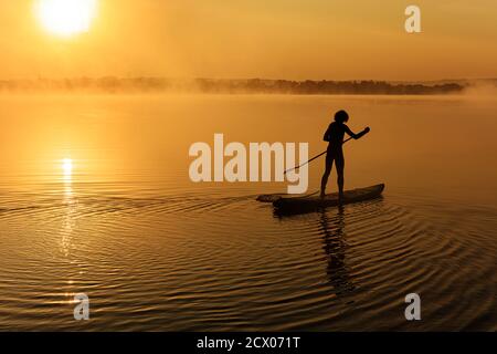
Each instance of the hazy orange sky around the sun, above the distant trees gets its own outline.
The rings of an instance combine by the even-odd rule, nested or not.
[[[0,77],[497,77],[496,0],[99,0],[57,38],[32,0],[0,0]],[[422,10],[420,34],[404,9]]]

